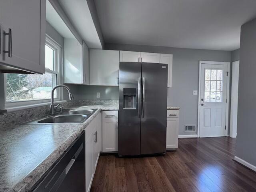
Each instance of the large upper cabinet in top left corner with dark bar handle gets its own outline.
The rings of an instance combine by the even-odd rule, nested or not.
[[[0,1],[1,64],[20,73],[45,72],[45,12],[46,0]]]

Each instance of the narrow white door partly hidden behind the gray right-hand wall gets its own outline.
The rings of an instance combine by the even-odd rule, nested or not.
[[[235,61],[232,63],[230,134],[229,134],[229,136],[233,138],[236,138],[236,129],[237,129],[238,78],[239,78],[239,61]]]

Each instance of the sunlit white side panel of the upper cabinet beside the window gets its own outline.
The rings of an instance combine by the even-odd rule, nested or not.
[[[82,45],[64,38],[64,83],[82,84]]]

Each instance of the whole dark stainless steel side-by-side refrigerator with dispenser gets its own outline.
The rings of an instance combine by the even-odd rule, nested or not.
[[[168,65],[119,63],[118,155],[166,152]]]

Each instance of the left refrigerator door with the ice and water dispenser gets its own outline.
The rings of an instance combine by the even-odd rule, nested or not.
[[[118,130],[119,156],[140,154],[141,112],[140,97],[138,96],[140,86],[141,63],[120,62]]]

